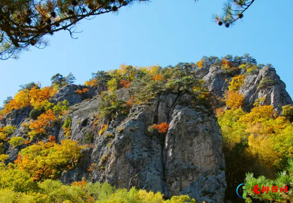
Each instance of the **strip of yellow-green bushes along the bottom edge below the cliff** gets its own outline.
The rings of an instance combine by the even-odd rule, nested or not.
[[[105,170],[102,166],[100,169]],[[17,178],[23,181],[24,178],[19,175]],[[195,203],[188,195],[173,196],[170,200],[164,200],[159,192],[147,192],[134,187],[130,190],[116,189],[107,182],[101,184],[83,180],[72,185],[63,185],[58,180],[48,179],[39,183],[32,182],[30,178],[29,180],[30,185],[27,186],[36,189],[28,193],[18,192],[12,184],[11,187],[0,188],[0,203]],[[17,184],[14,185],[18,187]]]

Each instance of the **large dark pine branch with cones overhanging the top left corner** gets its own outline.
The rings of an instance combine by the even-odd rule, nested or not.
[[[148,0],[0,0],[0,59],[46,47],[43,37],[60,30],[73,37],[78,21],[142,1]]]

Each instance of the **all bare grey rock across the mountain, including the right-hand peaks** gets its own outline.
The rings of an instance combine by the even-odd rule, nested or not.
[[[197,69],[192,76],[204,80],[204,86],[222,99],[236,74],[245,74],[240,88],[245,96],[245,109],[251,109],[260,98],[265,98],[263,104],[277,109],[293,103],[285,83],[272,67],[256,68],[250,73],[239,69],[231,74],[212,65]],[[81,88],[65,86],[52,99],[53,103],[69,101],[67,116],[72,120],[70,137],[65,137],[61,128],[66,118],[54,127],[54,136],[58,141],[71,138],[86,145],[75,169],[62,173],[63,183],[85,177],[94,182],[107,181],[117,188],[159,191],[166,197],[187,194],[199,203],[223,202],[226,182],[222,136],[211,108],[195,105],[197,98],[188,91],[164,92],[147,103],[134,105],[127,114],[99,118],[100,93],[106,88],[98,86],[76,94],[76,89]],[[117,100],[129,98],[129,89],[117,91]],[[31,110],[13,110],[1,120],[0,127],[17,126],[11,137],[23,136],[21,124],[29,123]],[[166,133],[159,134],[150,128],[160,123],[168,124]],[[104,131],[100,131],[102,125],[107,126]],[[4,148],[9,155],[7,162],[13,162],[23,146],[11,147],[6,143]]]

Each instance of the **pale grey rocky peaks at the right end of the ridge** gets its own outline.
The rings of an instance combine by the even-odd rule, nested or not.
[[[245,74],[240,93],[245,96],[244,108],[246,110],[251,109],[254,102],[262,97],[265,98],[262,105],[273,105],[279,110],[282,106],[293,104],[286,91],[286,85],[276,73],[275,68],[257,68],[249,74],[244,70],[239,70],[236,74]],[[220,67],[216,66],[205,67],[196,71],[196,77],[205,80],[207,89],[220,97],[223,97],[225,91],[228,90],[229,81],[233,76],[226,74]],[[270,81],[266,83],[265,81],[268,79]]]

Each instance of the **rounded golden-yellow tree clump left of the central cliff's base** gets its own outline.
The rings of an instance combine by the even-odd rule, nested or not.
[[[77,141],[65,139],[56,142],[38,142],[22,149],[14,161],[19,170],[30,174],[34,180],[58,178],[64,169],[72,169],[80,156]]]

